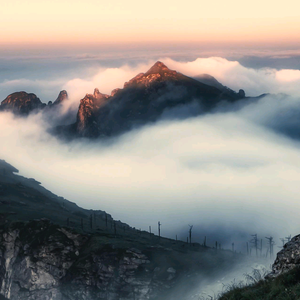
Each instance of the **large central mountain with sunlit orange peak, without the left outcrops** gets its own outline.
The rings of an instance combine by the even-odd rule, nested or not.
[[[212,110],[221,101],[235,102],[244,94],[220,90],[170,70],[156,62],[124,84],[123,89],[104,95],[87,94],[81,101],[77,120],[55,132],[65,137],[103,137],[126,132],[158,120],[166,110],[196,103],[199,113]]]

